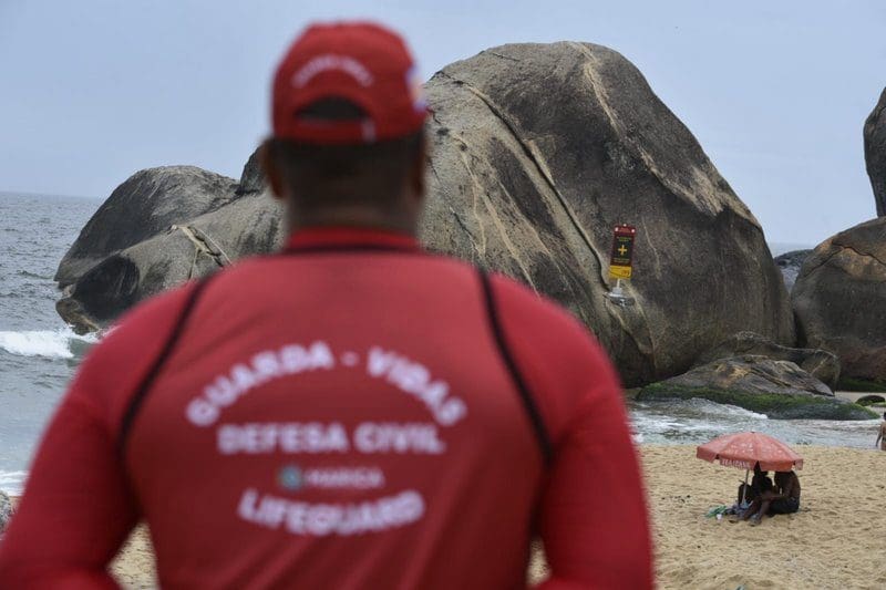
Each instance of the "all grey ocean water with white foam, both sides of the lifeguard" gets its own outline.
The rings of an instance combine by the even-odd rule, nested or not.
[[[0,489],[17,494],[47,422],[94,337],[55,313],[52,277],[100,199],[0,193]],[[773,255],[804,245],[771,245]],[[805,246],[810,247],[810,246]],[[703,443],[753,429],[787,443],[873,447],[877,421],[774,421],[703,400],[629,402],[640,443]]]

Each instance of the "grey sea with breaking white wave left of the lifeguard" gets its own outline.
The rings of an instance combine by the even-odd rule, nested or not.
[[[94,338],[55,313],[52,277],[99,199],[0,193],[0,489],[20,491],[40,433]]]

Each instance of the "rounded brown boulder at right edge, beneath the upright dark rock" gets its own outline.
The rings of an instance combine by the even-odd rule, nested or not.
[[[848,377],[886,381],[886,217],[815,248],[792,299],[803,345],[835,353]]]

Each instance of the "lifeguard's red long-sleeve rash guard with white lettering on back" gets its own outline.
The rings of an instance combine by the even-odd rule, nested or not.
[[[651,587],[618,384],[567,313],[357,230],[203,284],[90,353],[0,588],[112,588],[140,519],[164,588],[519,588],[536,532],[546,588]]]

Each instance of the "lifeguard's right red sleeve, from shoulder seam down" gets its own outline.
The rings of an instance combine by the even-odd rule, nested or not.
[[[652,587],[652,544],[621,387],[575,318],[494,277],[505,339],[554,445],[539,506],[545,590]]]

